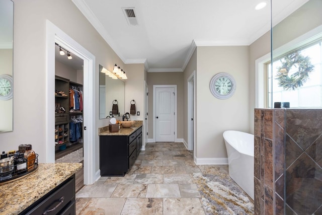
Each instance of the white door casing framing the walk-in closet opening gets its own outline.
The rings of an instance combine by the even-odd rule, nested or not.
[[[46,163],[55,162],[55,145],[53,144],[55,129],[54,106],[52,96],[55,91],[55,43],[73,52],[84,60],[84,184],[93,184],[98,178],[95,171],[95,56],[79,45],[57,26],[46,20]]]

